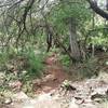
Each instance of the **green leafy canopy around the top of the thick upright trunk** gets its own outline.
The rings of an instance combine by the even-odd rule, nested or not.
[[[52,10],[50,21],[62,35],[66,35],[68,30],[67,24],[69,17],[76,19],[77,25],[80,24],[82,29],[84,27],[82,25],[91,19],[91,11],[86,5],[85,0],[63,0]]]

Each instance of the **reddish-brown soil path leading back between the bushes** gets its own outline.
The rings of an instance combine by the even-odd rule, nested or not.
[[[40,94],[42,92],[49,93],[52,90],[58,87],[62,82],[69,78],[57,60],[56,55],[52,55],[45,60],[46,70],[44,77],[41,80],[37,80],[35,83],[35,92]]]

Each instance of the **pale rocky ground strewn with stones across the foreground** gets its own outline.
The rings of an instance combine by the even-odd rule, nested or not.
[[[23,92],[13,94],[13,102],[0,108],[108,108],[108,73],[69,84],[75,90],[59,86],[35,98]]]

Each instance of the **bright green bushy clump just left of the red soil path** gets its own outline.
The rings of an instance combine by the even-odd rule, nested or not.
[[[32,48],[26,49],[19,55],[27,58],[27,66],[25,67],[25,69],[27,70],[27,77],[40,77],[43,69],[43,55],[41,53],[35,54],[35,50]]]

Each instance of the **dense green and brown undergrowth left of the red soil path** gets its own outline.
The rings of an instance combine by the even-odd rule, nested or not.
[[[11,50],[0,53],[0,92],[22,91],[32,94],[32,81],[43,75],[44,54],[32,48],[23,51]],[[19,90],[12,87],[21,83]]]

